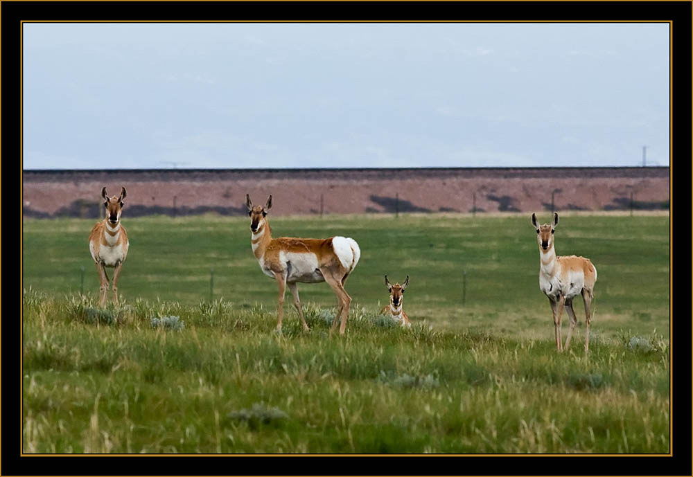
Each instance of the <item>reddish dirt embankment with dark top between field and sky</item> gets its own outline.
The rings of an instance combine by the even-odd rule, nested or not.
[[[277,215],[667,210],[669,168],[69,170],[23,172],[24,215],[100,217],[101,188],[128,190],[128,215],[245,213],[273,196]]]

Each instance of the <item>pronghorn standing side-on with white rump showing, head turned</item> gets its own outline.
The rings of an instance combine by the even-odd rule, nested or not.
[[[292,237],[273,239],[272,228],[267,222],[267,211],[272,208],[272,195],[263,207],[253,206],[250,196],[246,194],[245,205],[250,216],[251,245],[255,258],[263,273],[277,280],[279,285],[277,331],[281,332],[284,293],[287,286],[294,296],[294,305],[304,330],[308,330],[299,300],[298,283],[327,282],[337,295],[337,314],[330,334],[337,327],[340,315],[342,316],[340,334],[344,334],[351,304],[351,296],[344,289],[344,282],[347,281],[349,273],[356,267],[361,256],[356,240],[339,236],[326,239]]]

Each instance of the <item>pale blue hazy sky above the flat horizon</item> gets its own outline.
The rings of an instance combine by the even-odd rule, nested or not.
[[[669,24],[24,24],[25,169],[669,165]]]

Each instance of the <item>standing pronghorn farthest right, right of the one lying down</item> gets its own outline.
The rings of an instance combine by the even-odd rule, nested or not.
[[[549,298],[554,314],[554,332],[556,334],[556,348],[559,351],[567,350],[570,345],[570,336],[577,318],[572,309],[572,299],[577,294],[582,294],[585,303],[585,352],[590,348],[590,305],[594,297],[595,282],[597,281],[597,268],[588,258],[575,255],[556,257],[554,249],[554,231],[559,224],[559,215],[554,213],[552,225],[538,225],[536,215],[532,214],[532,226],[536,229],[536,240],[539,244],[539,288]],[[570,329],[565,339],[565,348],[561,341],[561,314],[565,307],[570,316]]]

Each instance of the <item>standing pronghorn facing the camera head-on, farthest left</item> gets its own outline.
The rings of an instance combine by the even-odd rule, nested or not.
[[[106,217],[98,222],[89,234],[89,251],[91,258],[96,263],[96,271],[100,280],[100,306],[106,304],[108,293],[108,276],[105,267],[114,267],[113,272],[113,301],[118,304],[118,278],[125,257],[128,256],[128,233],[121,224],[121,213],[123,212],[123,199],[125,199],[125,188],[121,190],[121,195],[108,197],[106,188],[101,190],[103,206],[106,209]]]

